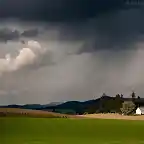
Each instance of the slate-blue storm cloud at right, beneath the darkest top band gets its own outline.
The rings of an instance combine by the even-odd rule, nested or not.
[[[144,40],[144,10],[131,9],[110,14],[107,17],[93,19],[85,25],[85,35],[89,41],[81,52],[92,50],[134,48],[135,42]],[[89,49],[90,50],[90,49]],[[91,51],[91,50],[90,50]]]

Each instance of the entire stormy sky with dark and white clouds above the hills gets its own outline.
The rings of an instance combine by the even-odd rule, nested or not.
[[[144,97],[144,3],[1,0],[0,105]]]

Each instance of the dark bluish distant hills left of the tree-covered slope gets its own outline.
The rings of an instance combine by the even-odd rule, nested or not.
[[[99,101],[100,99],[96,100],[88,100],[84,102],[80,101],[68,101],[64,103],[59,102],[52,102],[47,105],[40,105],[40,104],[26,104],[26,105],[6,105],[6,106],[0,106],[1,108],[20,108],[20,109],[31,109],[31,110],[43,110],[43,111],[53,111],[53,112],[60,112],[66,111],[66,113],[79,113],[82,114],[85,112],[86,109],[88,109],[91,106],[99,107]],[[65,113],[65,112],[64,112]]]

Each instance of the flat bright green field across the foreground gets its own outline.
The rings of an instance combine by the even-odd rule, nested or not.
[[[0,118],[0,144],[144,144],[144,121]]]

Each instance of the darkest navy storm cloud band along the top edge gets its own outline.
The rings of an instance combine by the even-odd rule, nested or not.
[[[124,8],[124,0],[1,0],[0,17],[24,20],[80,21]]]

